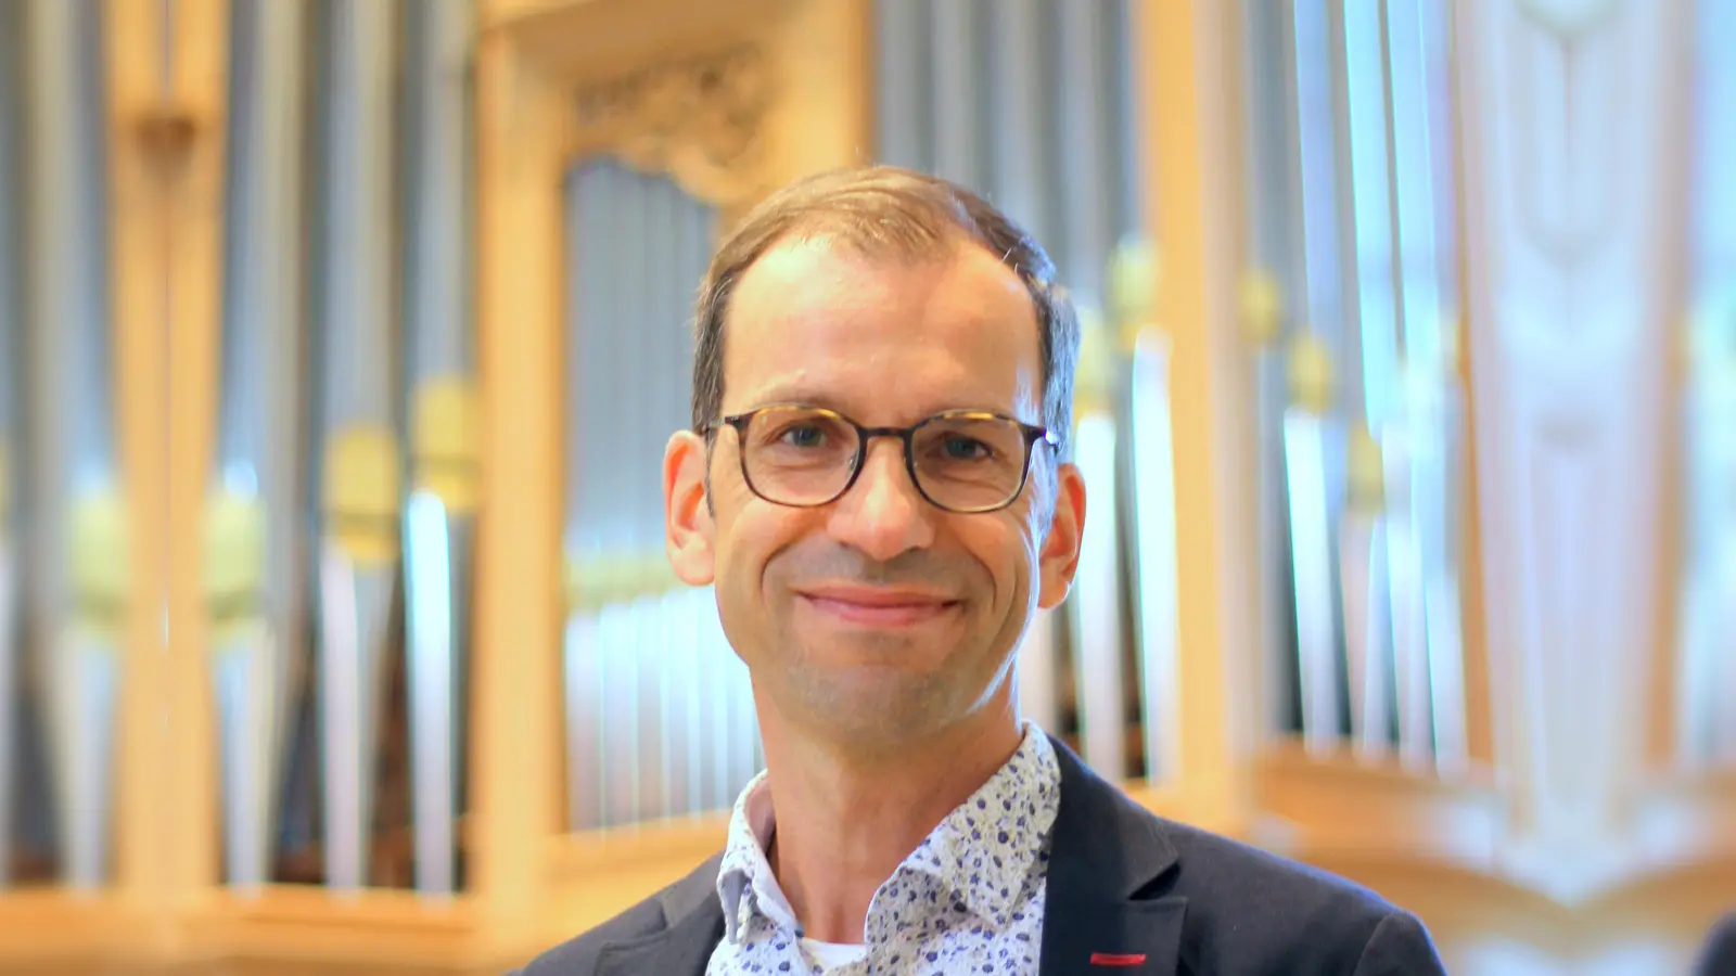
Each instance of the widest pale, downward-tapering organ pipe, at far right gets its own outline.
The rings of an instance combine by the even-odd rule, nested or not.
[[[1453,7],[1496,754],[1562,896],[1620,870],[1642,773],[1687,9]]]

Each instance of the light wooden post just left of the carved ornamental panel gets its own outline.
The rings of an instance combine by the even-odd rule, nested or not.
[[[561,116],[484,7],[476,63],[483,476],[472,663],[470,884],[500,952],[542,933],[559,830]]]

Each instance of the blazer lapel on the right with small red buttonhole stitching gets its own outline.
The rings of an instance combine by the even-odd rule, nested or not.
[[[1187,900],[1167,896],[1175,847],[1149,811],[1059,740],[1042,976],[1174,976]]]

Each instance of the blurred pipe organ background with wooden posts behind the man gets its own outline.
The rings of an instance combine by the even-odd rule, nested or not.
[[[1722,0],[0,0],[0,971],[495,973],[719,849],[694,288],[880,160],[1085,321],[1024,712],[1453,973],[1686,973],[1729,50]]]

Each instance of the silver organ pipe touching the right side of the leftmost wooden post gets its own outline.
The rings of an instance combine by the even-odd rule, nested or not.
[[[271,877],[292,663],[302,653],[300,5],[240,2],[233,80],[217,471],[205,582],[220,738],[226,877]]]

